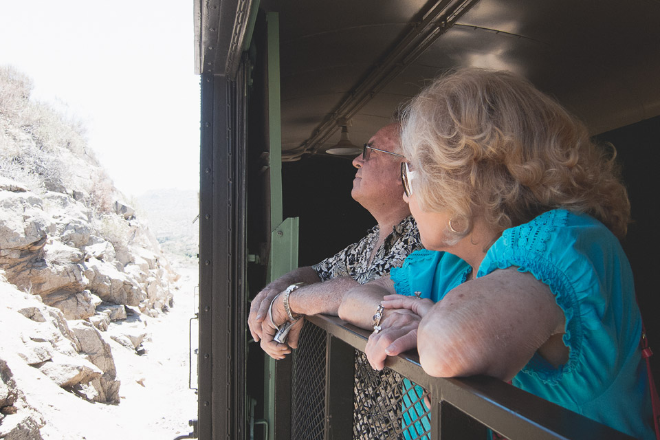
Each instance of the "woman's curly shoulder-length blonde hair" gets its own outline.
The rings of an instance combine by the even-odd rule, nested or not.
[[[461,225],[448,230],[454,243],[476,216],[499,234],[555,208],[626,235],[630,202],[613,146],[595,145],[582,122],[524,78],[457,70],[423,89],[401,120],[412,192],[422,210],[447,211]]]

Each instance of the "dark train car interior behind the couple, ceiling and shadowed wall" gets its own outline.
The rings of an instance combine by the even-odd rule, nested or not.
[[[454,13],[431,18],[445,3]],[[635,220],[624,245],[641,300],[652,296],[659,2],[262,1],[261,10],[279,13],[283,203],[310,244],[300,245],[300,265],[373,226],[350,198],[352,156],[325,153],[340,140],[342,118],[362,146],[429,79],[471,65],[523,74],[615,145]],[[257,47],[259,29],[258,18]]]

